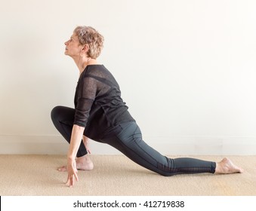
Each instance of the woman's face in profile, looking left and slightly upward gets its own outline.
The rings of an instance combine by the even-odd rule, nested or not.
[[[68,41],[65,42],[65,54],[69,57],[79,56],[82,50],[82,45],[79,43],[79,37],[73,33]]]

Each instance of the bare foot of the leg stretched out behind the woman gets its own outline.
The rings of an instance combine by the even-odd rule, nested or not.
[[[236,167],[230,159],[225,157],[222,161],[216,163],[215,173],[242,173],[244,170],[240,167]]]

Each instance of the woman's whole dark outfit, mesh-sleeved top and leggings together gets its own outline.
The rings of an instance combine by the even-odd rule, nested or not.
[[[104,66],[87,66],[76,87],[75,109],[57,106],[51,111],[51,119],[67,142],[74,124],[85,127],[85,136],[112,145],[135,163],[163,176],[215,172],[214,162],[190,157],[171,159],[143,142],[119,85]],[[77,157],[87,153],[81,141]]]

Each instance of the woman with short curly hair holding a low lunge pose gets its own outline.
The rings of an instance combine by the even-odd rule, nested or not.
[[[51,112],[54,126],[69,142],[66,185],[79,180],[77,170],[92,170],[88,153],[88,138],[107,143],[122,151],[140,166],[172,176],[181,173],[242,173],[229,159],[215,163],[189,157],[171,159],[159,154],[142,140],[140,128],[121,98],[119,84],[113,75],[97,63],[103,48],[103,36],[90,26],[78,26],[69,41],[65,54],[79,68],[75,94],[75,109],[55,107]]]

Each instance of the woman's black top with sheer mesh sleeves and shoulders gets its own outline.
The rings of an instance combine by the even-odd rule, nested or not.
[[[103,138],[117,124],[134,121],[121,98],[119,84],[103,65],[86,66],[76,86],[74,124],[91,139]]]

